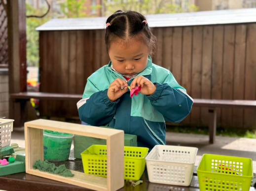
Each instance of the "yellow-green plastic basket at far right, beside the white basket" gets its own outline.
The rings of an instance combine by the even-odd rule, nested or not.
[[[197,176],[200,191],[249,191],[252,159],[205,154],[197,167]]]

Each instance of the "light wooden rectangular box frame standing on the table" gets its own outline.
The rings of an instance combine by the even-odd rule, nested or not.
[[[107,178],[72,171],[63,177],[33,169],[43,161],[43,130],[107,139]],[[97,191],[116,191],[124,186],[124,132],[115,129],[38,119],[25,123],[26,173]]]

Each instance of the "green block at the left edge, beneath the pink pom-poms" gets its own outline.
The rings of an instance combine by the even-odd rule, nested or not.
[[[16,174],[25,171],[25,163],[21,161],[15,161],[14,163],[9,163],[3,166],[0,165],[0,176]]]

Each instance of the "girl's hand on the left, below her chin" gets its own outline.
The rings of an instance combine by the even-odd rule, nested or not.
[[[108,97],[110,99],[111,102],[115,102],[118,98],[120,98],[124,93],[127,92],[127,86],[128,84],[120,79],[120,78],[117,78],[115,79],[112,83],[110,83],[110,87],[108,89]],[[122,89],[122,88],[123,89]]]

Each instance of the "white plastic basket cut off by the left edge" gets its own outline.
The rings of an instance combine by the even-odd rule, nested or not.
[[[0,119],[0,142],[1,147],[11,144],[11,132],[13,130],[13,119]]]

